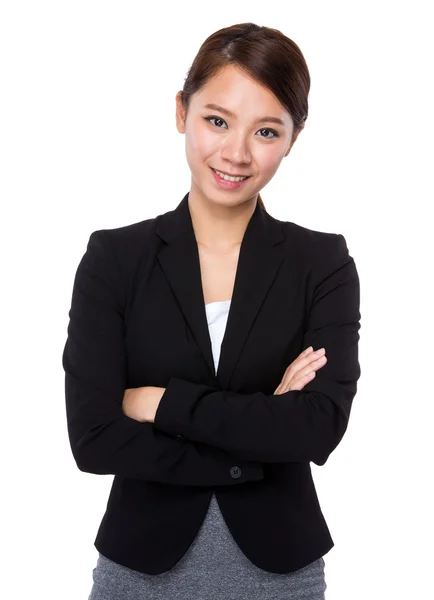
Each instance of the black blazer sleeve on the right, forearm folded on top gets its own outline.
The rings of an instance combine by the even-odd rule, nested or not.
[[[300,391],[277,395],[221,391],[172,378],[157,408],[155,427],[243,460],[327,461],[347,429],[360,377],[360,287],[343,235],[327,234],[316,256],[302,343],[303,350],[326,349],[327,363],[316,377]]]

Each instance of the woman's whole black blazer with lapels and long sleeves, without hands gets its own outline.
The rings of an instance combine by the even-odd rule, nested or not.
[[[148,574],[173,567],[216,494],[245,555],[273,573],[333,546],[311,474],[348,426],[360,377],[359,278],[345,238],[259,204],[241,244],[217,374],[188,194],[172,211],[94,231],[74,279],[62,364],[81,471],[114,480],[95,547]],[[273,395],[308,346],[328,362]],[[126,388],[165,387],[155,423]]]

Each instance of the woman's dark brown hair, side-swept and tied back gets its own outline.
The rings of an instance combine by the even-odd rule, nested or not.
[[[211,34],[199,48],[185,79],[181,100],[186,111],[191,96],[226,65],[236,65],[267,87],[291,115],[291,145],[308,115],[309,70],[295,42],[278,29],[239,23]],[[258,202],[265,210],[261,195]]]

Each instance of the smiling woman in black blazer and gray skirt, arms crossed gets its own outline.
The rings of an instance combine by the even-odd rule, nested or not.
[[[63,365],[77,465],[115,475],[91,600],[324,599],[333,541],[310,461],[348,424],[359,280],[342,235],[259,195],[309,86],[281,32],[211,35],[176,96],[189,193],[90,236]]]

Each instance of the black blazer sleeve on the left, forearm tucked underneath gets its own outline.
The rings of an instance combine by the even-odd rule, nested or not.
[[[263,479],[260,462],[182,440],[125,415],[127,385],[122,273],[107,230],[90,235],[76,271],[62,356],[69,441],[78,468],[175,485]],[[231,475],[241,467],[238,478]],[[240,473],[240,471],[237,471]]]

